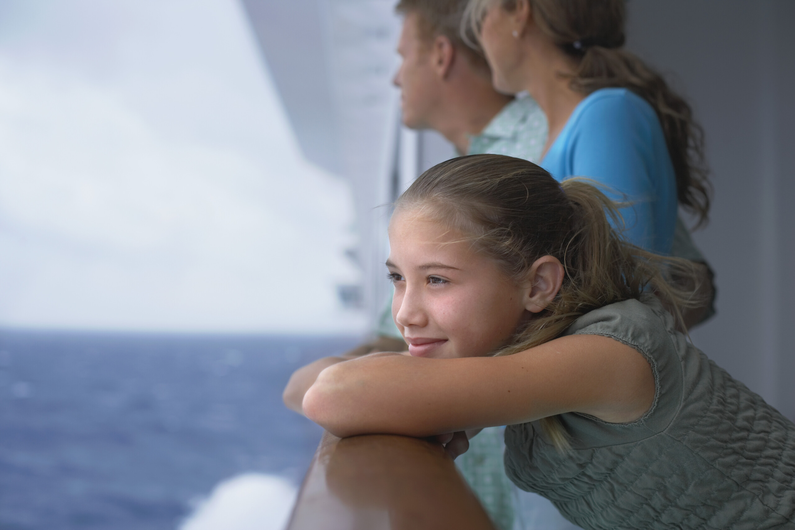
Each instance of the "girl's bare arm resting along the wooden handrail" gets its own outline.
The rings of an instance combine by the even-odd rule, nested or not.
[[[519,424],[563,412],[628,422],[651,406],[654,380],[637,350],[572,335],[505,357],[374,356],[316,374],[304,414],[338,436],[429,436]]]

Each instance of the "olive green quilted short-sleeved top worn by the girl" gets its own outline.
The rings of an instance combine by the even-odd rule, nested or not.
[[[506,428],[506,472],[583,528],[795,528],[795,425],[675,331],[653,297],[591,311],[566,331],[650,362],[656,395],[629,424],[560,416],[561,454],[537,422]],[[752,354],[753,352],[749,352]]]

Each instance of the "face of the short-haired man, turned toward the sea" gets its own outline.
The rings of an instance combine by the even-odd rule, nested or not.
[[[429,129],[431,112],[439,99],[440,79],[433,68],[431,43],[423,41],[416,13],[405,16],[397,53],[402,62],[394,83],[401,89],[403,123],[411,129]]]

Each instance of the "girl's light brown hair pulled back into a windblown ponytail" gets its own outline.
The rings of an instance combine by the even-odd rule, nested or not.
[[[572,178],[558,184],[532,162],[502,155],[471,155],[423,173],[397,199],[396,211],[416,211],[460,230],[479,253],[524,282],[533,262],[556,257],[564,266],[560,291],[547,308],[522,324],[493,355],[510,355],[556,339],[588,311],[654,292],[681,321],[681,308],[699,304],[673,287],[695,277],[690,261],[633,246],[612,226],[622,219],[593,183]],[[568,435],[556,417],[541,420],[560,451]]]

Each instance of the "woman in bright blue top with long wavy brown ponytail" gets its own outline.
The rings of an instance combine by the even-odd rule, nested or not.
[[[626,199],[626,237],[669,254],[677,207],[707,220],[702,134],[686,102],[626,52],[624,0],[471,0],[499,91],[528,91],[549,136],[541,167],[588,176]]]

